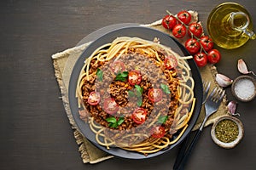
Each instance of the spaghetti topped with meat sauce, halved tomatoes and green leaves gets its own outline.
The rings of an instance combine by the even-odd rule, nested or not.
[[[96,48],[84,61],[76,97],[97,143],[144,155],[176,143],[195,107],[187,59],[138,37]]]

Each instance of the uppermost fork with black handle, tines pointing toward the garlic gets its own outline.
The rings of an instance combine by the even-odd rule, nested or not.
[[[207,122],[208,117],[211,116],[216,111],[218,111],[218,107],[219,107],[223,97],[224,97],[224,90],[222,90],[221,88],[214,88],[212,90],[212,93],[207,98],[207,101],[205,104],[206,116],[205,116],[203,122],[201,123],[201,127],[195,133],[195,137],[192,140],[191,144],[189,144],[189,148],[187,150],[183,149],[184,150],[183,157],[179,162],[177,162],[174,165],[174,167],[173,167],[174,170],[184,169],[185,163],[186,163],[186,161],[188,161],[189,156],[191,155],[192,150],[194,149],[195,144],[201,135],[202,129],[203,129],[205,123]],[[187,139],[187,140],[189,140],[189,139]],[[188,141],[186,143],[188,143]],[[185,147],[186,146],[187,146],[187,144],[185,144]]]

